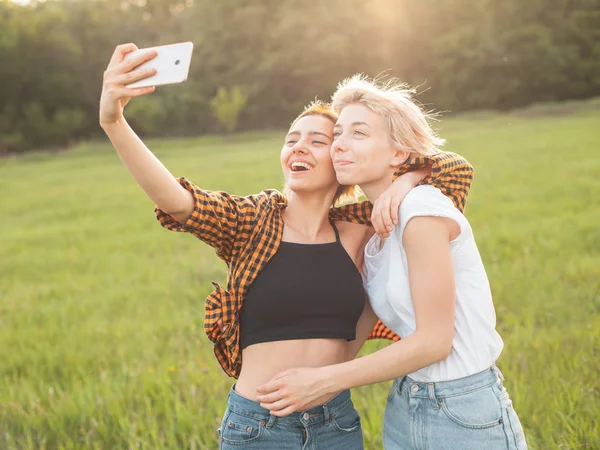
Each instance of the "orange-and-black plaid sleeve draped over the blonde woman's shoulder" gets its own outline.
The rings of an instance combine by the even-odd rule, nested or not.
[[[396,171],[398,177],[411,170],[431,167],[431,176],[422,180],[419,185],[430,184],[449,197],[454,206],[464,211],[469,189],[473,182],[473,166],[460,155],[440,152],[431,156],[412,158]]]

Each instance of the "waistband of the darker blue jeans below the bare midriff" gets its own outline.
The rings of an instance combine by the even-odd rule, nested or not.
[[[275,425],[275,423],[291,427],[322,425],[328,423],[332,417],[342,414],[348,408],[352,408],[353,404],[350,398],[350,391],[345,390],[322,405],[295,412],[286,417],[276,417],[270,414],[268,409],[264,409],[260,406],[260,403],[242,397],[235,392],[234,385],[229,391],[227,406],[231,411],[237,414],[264,421],[263,425],[270,428]]]

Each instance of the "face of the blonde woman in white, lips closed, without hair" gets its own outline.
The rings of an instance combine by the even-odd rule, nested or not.
[[[373,183],[391,183],[408,156],[392,144],[384,118],[360,103],[342,109],[333,135],[331,159],[338,182],[358,184],[365,193]]]

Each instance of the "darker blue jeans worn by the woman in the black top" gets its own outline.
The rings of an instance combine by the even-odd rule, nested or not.
[[[219,437],[221,450],[363,449],[360,417],[350,391],[306,411],[275,417],[231,388]]]

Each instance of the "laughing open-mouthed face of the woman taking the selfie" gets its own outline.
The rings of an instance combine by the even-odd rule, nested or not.
[[[287,187],[295,193],[333,192],[339,187],[329,150],[333,122],[322,115],[297,120],[281,149],[281,169]]]

